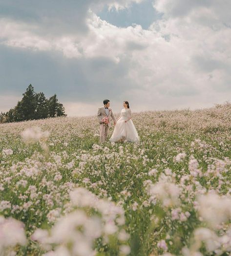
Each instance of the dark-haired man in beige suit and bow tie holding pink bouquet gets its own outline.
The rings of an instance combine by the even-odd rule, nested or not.
[[[116,118],[112,114],[110,106],[110,101],[108,99],[104,100],[104,107],[101,107],[98,109],[98,119],[100,121],[100,143],[104,142],[107,139],[107,135],[111,126],[110,119],[112,118],[114,121],[114,124],[116,124]],[[104,125],[101,120],[105,117],[108,117],[109,123],[107,125]]]

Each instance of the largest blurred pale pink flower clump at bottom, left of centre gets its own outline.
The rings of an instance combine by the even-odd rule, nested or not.
[[[117,240],[120,255],[129,254],[130,248],[124,244],[129,236],[121,227],[125,224],[122,208],[99,199],[82,187],[71,191],[70,198],[71,212],[57,219],[50,232],[37,229],[31,236],[48,251],[46,256],[93,256],[97,250],[94,249],[96,239],[101,238],[110,248],[112,237],[114,241]],[[51,251],[53,245],[55,247]]]

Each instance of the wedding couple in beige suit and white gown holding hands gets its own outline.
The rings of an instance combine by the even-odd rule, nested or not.
[[[114,131],[110,138],[111,142],[117,141],[139,141],[136,128],[131,120],[131,110],[128,101],[123,102],[124,108],[121,110],[120,117],[116,120],[110,108],[110,101],[104,100],[104,106],[98,109],[98,119],[100,122],[100,143],[105,142],[111,126],[110,119],[114,121]]]

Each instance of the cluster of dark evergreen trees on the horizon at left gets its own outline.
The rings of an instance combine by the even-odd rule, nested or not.
[[[22,96],[14,108],[0,113],[0,123],[66,116],[63,104],[58,102],[56,94],[47,99],[44,93],[35,93],[30,84]]]

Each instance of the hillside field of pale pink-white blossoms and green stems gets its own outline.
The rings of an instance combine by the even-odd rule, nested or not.
[[[0,124],[0,256],[231,256],[231,103],[133,122]]]

